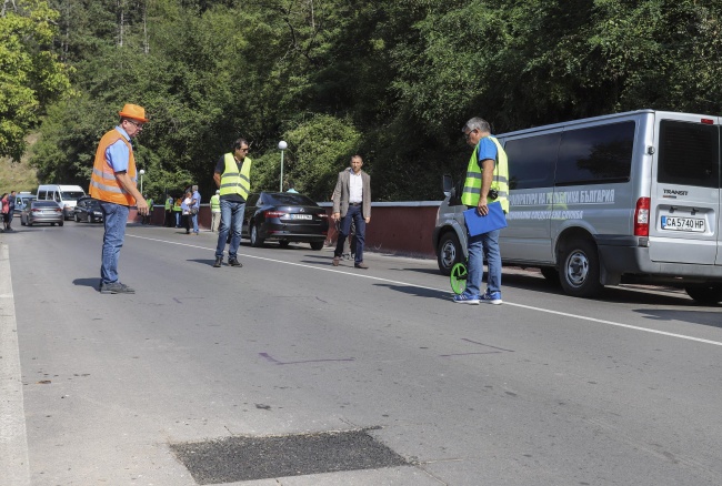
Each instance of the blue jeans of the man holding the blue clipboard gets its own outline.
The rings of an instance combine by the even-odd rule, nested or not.
[[[499,251],[499,231],[468,236],[469,239],[469,274],[467,276],[467,292],[481,295],[481,277],[484,273],[484,254],[487,255],[487,291],[501,292],[501,252]]]

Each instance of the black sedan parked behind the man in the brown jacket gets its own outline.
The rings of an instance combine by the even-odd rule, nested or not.
[[[278,241],[281,246],[299,242],[321,250],[328,233],[325,210],[305,195],[261,192],[248,196],[242,234],[251,240],[251,246]]]

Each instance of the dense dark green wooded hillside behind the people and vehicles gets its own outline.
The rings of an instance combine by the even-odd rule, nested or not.
[[[254,188],[278,189],[284,139],[298,190],[327,200],[358,151],[377,201],[439,199],[441,174],[467,164],[460,128],[474,115],[500,133],[641,108],[722,109],[712,0],[51,1],[59,30],[40,29],[50,38],[0,37],[14,52],[0,55],[0,143],[19,146],[57,95],[48,85],[62,83],[37,75],[57,57],[78,92],[43,119],[32,161],[44,180],[87,181],[128,102],[151,119],[136,146],[157,195],[193,182],[213,192],[218,158],[243,135],[258,155]],[[13,22],[49,10],[18,4]]]

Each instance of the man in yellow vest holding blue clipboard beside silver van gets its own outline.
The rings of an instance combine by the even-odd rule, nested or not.
[[[467,221],[469,263],[467,290],[454,295],[459,304],[480,302],[499,305],[501,300],[501,252],[499,232],[507,226],[504,214],[509,212],[509,164],[507,152],[491,135],[489,122],[472,118],[461,129],[467,143],[474,148],[461,203],[470,207],[464,212]],[[480,295],[484,254],[489,274],[487,292]]]

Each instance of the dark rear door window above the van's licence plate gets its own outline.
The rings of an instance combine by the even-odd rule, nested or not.
[[[660,122],[658,182],[720,186],[720,129],[702,123]]]

